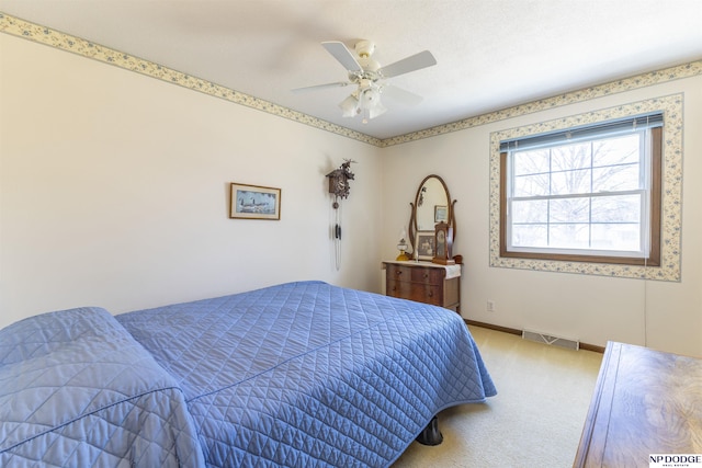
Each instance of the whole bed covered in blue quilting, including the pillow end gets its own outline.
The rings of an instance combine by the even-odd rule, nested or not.
[[[392,465],[495,386],[448,309],[296,282],[0,330],[0,466]]]

